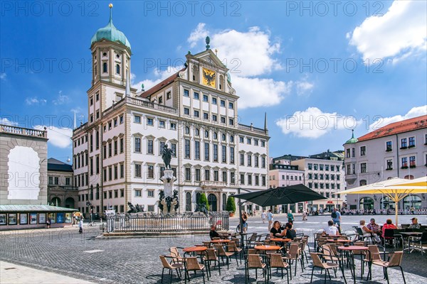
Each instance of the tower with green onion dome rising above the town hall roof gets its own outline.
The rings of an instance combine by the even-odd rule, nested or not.
[[[130,78],[130,43],[124,33],[112,23],[112,4],[110,21],[93,35],[92,87],[88,90],[89,122],[100,119],[102,112],[120,101],[126,95]]]

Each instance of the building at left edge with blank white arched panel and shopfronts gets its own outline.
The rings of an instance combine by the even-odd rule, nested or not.
[[[74,209],[48,204],[48,135],[0,124],[0,230],[71,224]]]

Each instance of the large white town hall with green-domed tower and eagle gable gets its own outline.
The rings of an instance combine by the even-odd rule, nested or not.
[[[209,38],[184,68],[142,92],[130,87],[131,46],[111,16],[90,50],[89,119],[72,137],[81,212],[126,212],[128,202],[157,212],[165,145],[174,151],[181,212],[194,210],[201,192],[219,211],[238,187],[268,188],[266,118],[262,128],[239,124],[238,94]]]

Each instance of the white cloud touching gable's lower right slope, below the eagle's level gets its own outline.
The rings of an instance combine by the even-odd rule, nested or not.
[[[233,87],[238,89],[239,109],[248,107],[270,107],[282,102],[289,94],[292,82],[286,83],[273,79],[234,77]]]

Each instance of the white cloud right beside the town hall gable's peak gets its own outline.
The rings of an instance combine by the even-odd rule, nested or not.
[[[270,33],[258,27],[247,32],[221,31],[212,35],[211,45],[218,50],[218,58],[230,69],[232,76],[252,77],[280,70],[280,62],[273,58],[280,52],[280,43],[272,43]]]

